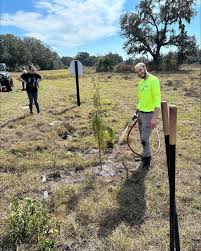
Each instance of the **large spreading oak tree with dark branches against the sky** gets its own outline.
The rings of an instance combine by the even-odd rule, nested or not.
[[[176,46],[182,61],[185,51],[196,44],[186,32],[186,24],[196,14],[194,4],[195,0],[142,0],[134,13],[123,14],[121,35],[128,55],[150,54],[157,70],[161,48]]]

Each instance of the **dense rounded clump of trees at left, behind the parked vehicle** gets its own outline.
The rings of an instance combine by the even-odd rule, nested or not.
[[[12,34],[0,35],[0,62],[6,63],[10,70],[20,70],[31,63],[43,70],[63,67],[58,54],[39,39]]]

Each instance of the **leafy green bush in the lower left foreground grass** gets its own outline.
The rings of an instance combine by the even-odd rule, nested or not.
[[[45,205],[32,198],[15,200],[8,217],[8,235],[15,245],[29,243],[39,250],[52,250],[58,233]]]

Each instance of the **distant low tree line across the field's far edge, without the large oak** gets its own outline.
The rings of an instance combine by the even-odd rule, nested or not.
[[[201,63],[201,50],[196,46],[191,49],[194,52],[186,53],[182,63]],[[154,68],[154,61],[145,56],[123,60],[118,53],[110,52],[104,56],[93,56],[88,52],[78,52],[75,57],[59,57],[39,39],[18,38],[11,34],[0,35],[0,62],[6,63],[9,70],[20,71],[23,66],[31,63],[41,70],[62,69],[69,67],[74,59],[82,62],[84,66],[95,67],[97,72],[132,72],[133,65],[139,61],[145,62],[149,69]],[[176,70],[180,64],[180,51],[170,51],[160,55],[158,70]]]

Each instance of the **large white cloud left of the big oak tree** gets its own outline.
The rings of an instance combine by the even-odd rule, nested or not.
[[[116,34],[124,2],[38,0],[37,12],[3,13],[1,25],[20,28],[54,48],[70,48]]]

